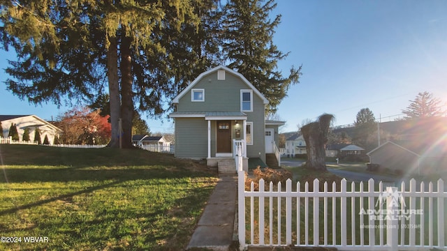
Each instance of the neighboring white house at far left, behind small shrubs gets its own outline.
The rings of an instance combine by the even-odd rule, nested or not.
[[[0,136],[8,137],[9,128],[11,124],[17,127],[17,132],[19,134],[19,140],[23,139],[23,132],[25,128],[29,128],[29,139],[34,141],[34,131],[38,128],[41,131],[41,142],[45,139],[45,136],[48,137],[48,141],[50,144],[53,144],[54,137],[57,135],[59,137],[62,132],[61,129],[52,125],[36,115],[0,115],[1,127],[3,128],[3,132]]]

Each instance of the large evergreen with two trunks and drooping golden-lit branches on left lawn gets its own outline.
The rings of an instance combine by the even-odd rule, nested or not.
[[[5,50],[12,46],[17,52],[17,61],[10,61],[6,69],[12,76],[6,80],[7,89],[36,104],[52,100],[60,105],[64,98],[91,100],[104,93],[103,76],[107,75],[112,124],[110,146],[118,146],[118,137],[123,137],[123,146],[131,147],[133,88],[138,86],[138,95],[144,92],[152,98],[140,107],[154,114],[164,112],[163,94],[173,89],[168,85],[170,82],[152,82],[154,88],[138,82],[133,63],[145,59],[156,61],[150,68],[141,66],[140,73],[152,74],[155,76],[152,79],[159,76],[170,79],[172,73],[163,62],[172,55],[166,54],[166,48],[161,46],[163,27],[170,24],[170,28],[178,30],[185,23],[197,26],[200,19],[194,7],[200,3],[186,0],[159,3],[81,0],[76,4],[50,0],[20,4],[3,1],[0,42]],[[171,36],[170,43],[175,43],[175,39]],[[120,118],[123,133],[118,132]]]

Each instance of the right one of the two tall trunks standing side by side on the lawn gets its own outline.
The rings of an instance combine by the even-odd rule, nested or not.
[[[121,38],[121,117],[122,117],[122,146],[132,147],[132,118],[133,118],[133,93],[132,93],[132,58],[131,38],[126,36],[126,26],[122,26]]]

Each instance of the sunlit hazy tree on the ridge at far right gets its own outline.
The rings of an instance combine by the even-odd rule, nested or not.
[[[446,110],[441,105],[439,98],[434,98],[432,93],[424,91],[418,93],[415,100],[410,100],[410,105],[402,110],[405,119],[425,118],[428,116],[444,116]]]

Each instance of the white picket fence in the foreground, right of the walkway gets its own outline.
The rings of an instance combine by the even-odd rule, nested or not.
[[[332,183],[331,191],[328,183],[324,183],[320,191],[317,179],[313,190],[309,190],[307,182],[304,190],[300,185],[298,182],[292,189],[289,179],[285,191],[281,190],[281,183],[275,189],[270,183],[265,190],[261,179],[258,191],[254,190],[254,183],[250,191],[245,191],[244,172],[238,172],[241,250],[249,245],[323,246],[337,250],[447,248],[444,234],[447,192],[441,179],[436,189],[431,182],[422,182],[417,187],[414,179],[409,182],[409,190],[405,190],[405,183],[400,190],[384,189],[382,182],[374,184],[372,179],[367,190],[363,183],[351,183],[349,189],[345,179],[338,191],[336,183]]]

